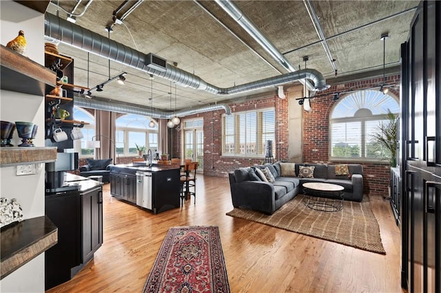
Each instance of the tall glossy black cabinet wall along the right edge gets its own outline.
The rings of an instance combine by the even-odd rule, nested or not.
[[[402,287],[441,292],[441,2],[421,1],[402,56]]]

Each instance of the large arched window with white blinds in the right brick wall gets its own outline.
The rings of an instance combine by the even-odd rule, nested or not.
[[[381,148],[373,134],[387,123],[388,111],[396,116],[398,102],[380,91],[357,91],[336,103],[329,116],[329,153],[331,160],[381,160],[387,149]]]

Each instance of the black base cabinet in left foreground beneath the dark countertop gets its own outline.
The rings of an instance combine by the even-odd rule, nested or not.
[[[72,279],[103,243],[101,186],[45,196],[45,215],[58,228],[58,243],[45,252],[45,290]]]

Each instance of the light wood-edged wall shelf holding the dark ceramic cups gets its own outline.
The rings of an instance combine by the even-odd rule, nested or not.
[[[55,162],[56,160],[57,147],[54,146],[3,146],[0,148],[0,167]]]

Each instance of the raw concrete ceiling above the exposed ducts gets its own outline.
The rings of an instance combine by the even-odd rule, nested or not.
[[[57,3],[69,12],[78,4],[74,14],[80,14],[88,0],[52,0],[47,12],[58,13],[66,19],[67,14],[54,5]],[[76,25],[107,37],[105,27],[112,24],[112,14],[122,3],[92,1],[83,16],[76,17]],[[337,75],[311,21],[308,3],[319,18],[331,58],[335,59]],[[321,72],[328,84],[351,80],[353,76],[381,76],[383,42],[380,36],[384,32],[389,33],[386,67],[396,70],[400,64],[400,44],[407,40],[418,3],[401,0],[234,1],[293,67],[305,68],[302,59],[309,56],[307,68]],[[178,68],[218,87],[232,87],[288,72],[214,1],[145,0],[123,23],[114,24],[112,30],[110,39],[145,54],[152,52],[165,58],[167,63],[177,63]],[[90,54],[88,80],[88,52],[63,43],[59,44],[59,52],[74,58],[76,85],[94,87],[109,77],[107,58]],[[94,98],[149,107],[153,91],[153,107],[169,111],[175,109],[175,93],[176,109],[276,94],[276,87],[229,96],[189,87],[175,89],[168,80],[159,77],[151,80],[146,72],[111,61],[110,77],[121,72],[127,72],[125,85],[108,83],[104,91],[92,91]]]

